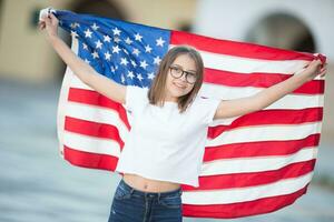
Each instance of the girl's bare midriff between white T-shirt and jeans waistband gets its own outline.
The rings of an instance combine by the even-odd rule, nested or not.
[[[125,173],[122,179],[127,184],[129,184],[134,189],[144,192],[168,192],[175,191],[180,186],[179,183],[151,180],[131,173]]]

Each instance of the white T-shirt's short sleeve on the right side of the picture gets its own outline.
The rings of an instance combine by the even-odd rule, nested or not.
[[[220,100],[199,97],[196,103],[195,111],[197,112],[199,120],[205,124],[210,124],[214,121]]]

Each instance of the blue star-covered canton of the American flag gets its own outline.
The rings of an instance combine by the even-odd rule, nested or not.
[[[169,30],[70,11],[56,14],[78,39],[78,56],[97,72],[125,85],[150,87],[168,51]]]

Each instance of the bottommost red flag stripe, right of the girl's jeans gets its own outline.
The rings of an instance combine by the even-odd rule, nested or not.
[[[291,194],[264,198],[254,201],[245,201],[240,203],[210,205],[183,204],[183,215],[193,218],[232,219],[269,213],[294,203],[296,199],[306,193],[307,186],[308,184]]]

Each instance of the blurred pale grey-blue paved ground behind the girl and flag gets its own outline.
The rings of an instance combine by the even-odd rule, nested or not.
[[[0,81],[0,221],[107,221],[120,176],[77,168],[58,154],[59,85],[28,87]],[[308,193],[275,213],[234,222],[334,221],[334,149],[321,143]],[[320,185],[318,181],[328,185]],[[185,222],[213,222],[185,218]]]

